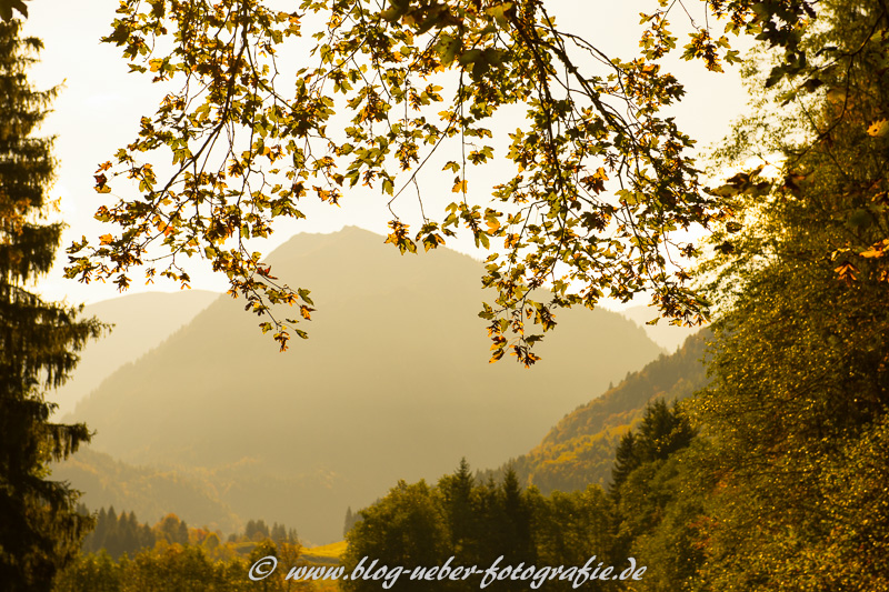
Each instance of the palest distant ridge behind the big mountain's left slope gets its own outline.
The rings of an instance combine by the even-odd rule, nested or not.
[[[71,379],[49,393],[59,403],[57,413],[72,411],[114,370],[160,344],[217,298],[218,293],[204,290],[147,292],[83,307],[81,318],[96,317],[114,327],[110,334],[87,344]]]

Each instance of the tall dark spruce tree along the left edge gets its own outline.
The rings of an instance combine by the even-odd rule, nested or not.
[[[7,591],[39,591],[91,523],[76,512],[78,492],[48,479],[48,463],[90,433],[50,422],[57,405],[43,390],[64,382],[101,325],[78,321],[78,310],[43,302],[32,288],[52,264],[62,224],[44,220],[51,140],[31,137],[54,91],[28,83],[41,42],[21,39],[19,28],[0,23],[0,581]]]

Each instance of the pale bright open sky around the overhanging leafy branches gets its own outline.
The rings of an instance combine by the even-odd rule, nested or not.
[[[294,0],[293,3],[298,2]],[[638,13],[640,10],[653,11],[657,2],[553,0],[547,6],[561,28],[582,34],[609,54],[631,59],[638,51]],[[152,86],[148,77],[128,74],[118,48],[99,42],[100,37],[109,33],[117,7],[118,0],[29,2],[26,32],[41,38],[46,44],[41,63],[31,70],[29,77],[38,88],[64,82],[54,102],[54,111],[42,129],[44,134],[57,136],[56,155],[60,167],[52,194],[61,198],[62,217],[69,224],[63,247],[84,234],[94,240],[111,231],[92,218],[103,200],[92,189],[92,174],[98,163],[111,160],[118,148],[132,141],[140,117],[152,116],[164,93],[163,89]],[[699,23],[703,21],[702,13],[691,16]],[[677,13],[670,20],[681,23],[687,19],[686,14]],[[679,44],[685,44],[682,37]],[[742,112],[747,102],[737,70],[727,68],[726,73],[717,74],[707,72],[699,62],[687,63],[678,59],[669,62],[667,69],[686,84],[686,99],[671,113],[680,129],[698,140],[701,148],[726,136],[729,123]],[[259,247],[263,252],[270,252],[294,232],[333,232],[343,225],[358,225],[383,234],[390,219],[386,200],[376,192],[347,195],[339,209],[302,202],[300,205],[308,220],[278,228],[272,239]],[[449,243],[449,247],[477,258],[485,257],[475,251],[471,239]],[[56,269],[40,282],[39,291],[46,298],[67,298],[70,303],[79,303],[118,295],[112,284],[84,285],[66,280],[61,270],[66,255],[60,252]],[[214,277],[207,262],[196,258],[190,264],[193,288],[216,291],[227,288],[224,279]],[[141,285],[139,275],[133,278],[131,291],[173,291],[178,288],[162,280],[158,280],[153,288],[146,288]],[[299,279],[288,279],[288,283],[299,284]]]

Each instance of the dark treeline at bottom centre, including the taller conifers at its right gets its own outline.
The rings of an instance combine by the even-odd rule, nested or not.
[[[649,405],[639,429],[620,445],[616,484],[608,492],[592,484],[583,491],[543,495],[533,486],[522,488],[509,469],[499,483],[479,481],[466,461],[431,486],[424,481],[399,482],[386,498],[358,513],[361,520],[347,536],[347,572],[364,556],[378,560],[378,565],[411,570],[443,565],[453,556],[452,566],[485,570],[502,555],[500,568],[573,568],[569,576],[562,579],[563,571],[541,584],[553,591],[573,590],[576,580],[570,574],[593,556],[591,568],[613,566],[618,574],[630,568],[635,542],[657,524],[667,501],[663,496],[639,496],[636,475],[687,449],[695,435],[676,405],[662,400]],[[651,568],[639,558],[635,565],[632,572],[647,579]],[[646,570],[639,571],[642,566]],[[430,584],[403,575],[393,589],[430,590],[432,585],[434,590],[478,590],[481,578],[477,574]],[[373,580],[342,583],[346,590],[356,592],[379,590],[379,585]],[[486,590],[525,591],[529,585],[528,580],[505,579],[490,582]]]

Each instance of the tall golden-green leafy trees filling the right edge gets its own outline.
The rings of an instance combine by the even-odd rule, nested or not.
[[[721,309],[697,404],[712,442],[705,588],[889,590],[873,448],[889,407],[887,17],[882,2],[823,2],[800,41],[830,48],[809,71],[819,90],[775,84],[785,117],[752,118],[726,152],[780,160],[776,178],[725,188],[746,228],[727,225],[703,268]]]

